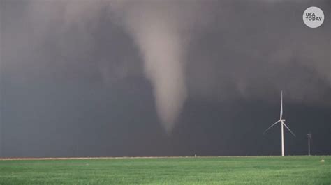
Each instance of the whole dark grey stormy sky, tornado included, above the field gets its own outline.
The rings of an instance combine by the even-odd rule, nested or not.
[[[302,14],[318,6],[317,29]],[[0,0],[0,156],[331,154],[330,1]]]

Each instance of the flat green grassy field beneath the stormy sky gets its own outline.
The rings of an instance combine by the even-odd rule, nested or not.
[[[331,184],[331,156],[11,160],[0,184]]]

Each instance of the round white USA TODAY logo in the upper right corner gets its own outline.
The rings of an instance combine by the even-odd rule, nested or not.
[[[304,24],[306,24],[309,28],[318,28],[324,22],[324,13],[320,8],[311,6],[304,10],[302,19]]]

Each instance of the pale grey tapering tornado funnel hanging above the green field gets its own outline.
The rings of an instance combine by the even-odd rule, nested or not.
[[[125,8],[122,17],[139,47],[145,76],[153,86],[157,113],[168,132],[187,96],[184,35],[180,33],[180,20],[172,17],[171,6],[161,1],[139,3]]]

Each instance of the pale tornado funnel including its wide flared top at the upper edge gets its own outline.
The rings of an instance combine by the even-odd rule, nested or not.
[[[201,1],[110,1],[109,5],[138,45],[156,111],[170,133],[188,95],[186,45],[208,22],[209,5]]]

